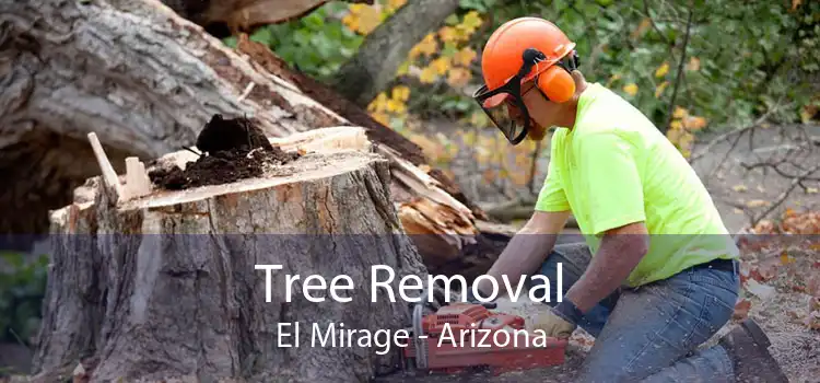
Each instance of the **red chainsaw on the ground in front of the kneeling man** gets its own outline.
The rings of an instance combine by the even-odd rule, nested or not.
[[[452,303],[423,315],[424,304],[415,304],[405,369],[459,373],[484,368],[497,375],[564,363],[565,339],[527,332],[523,317],[490,311],[495,306]]]

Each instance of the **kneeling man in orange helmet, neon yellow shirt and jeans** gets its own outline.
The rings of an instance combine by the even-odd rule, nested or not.
[[[787,381],[751,321],[696,350],[731,317],[738,249],[686,159],[631,104],[586,82],[574,48],[536,18],[505,23],[485,45],[475,98],[509,142],[558,128],[536,211],[488,275],[549,279],[553,297],[530,321],[550,336],[582,326],[596,337],[582,382]],[[581,251],[554,246],[571,213]]]

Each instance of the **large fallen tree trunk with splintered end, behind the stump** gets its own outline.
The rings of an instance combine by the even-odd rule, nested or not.
[[[393,202],[431,272],[497,255],[482,247],[480,209],[425,164],[418,146],[271,63],[267,48],[230,49],[159,1],[0,2],[0,173],[15,179],[0,190],[0,211],[11,212],[0,218],[7,237],[47,233],[48,210],[71,204],[71,192],[98,174],[89,132],[122,173],[126,156],[148,162],[190,146],[221,114],[253,117],[270,137],[364,127],[373,150],[390,160]]]

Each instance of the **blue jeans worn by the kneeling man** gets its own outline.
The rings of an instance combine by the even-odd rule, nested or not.
[[[558,304],[558,264],[562,264],[561,291],[565,293],[589,259],[585,244],[555,246],[539,271],[551,283],[553,295],[547,304]],[[577,380],[734,382],[733,363],[723,347],[698,347],[731,318],[739,288],[737,270],[701,268],[621,289],[578,323],[596,339]]]

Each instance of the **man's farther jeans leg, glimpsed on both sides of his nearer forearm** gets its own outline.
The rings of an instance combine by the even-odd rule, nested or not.
[[[547,277],[550,282],[550,299],[549,302],[544,302],[550,306],[554,306],[559,303],[558,292],[562,292],[562,295],[581,278],[586,270],[590,260],[589,247],[586,244],[569,244],[558,245],[555,251],[550,253],[547,260],[541,265],[538,270],[538,275]],[[559,289],[559,264],[561,265],[561,287]],[[529,286],[535,287],[540,285],[541,281],[532,281]],[[563,299],[563,297],[561,297]],[[581,328],[584,328],[589,335],[598,337],[604,325],[607,323],[609,313],[616,305],[618,300],[618,293],[613,293],[611,297],[605,299],[593,307],[584,318],[578,323]]]

